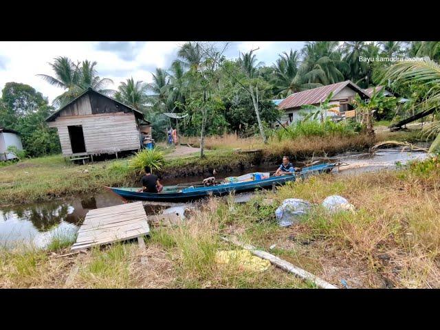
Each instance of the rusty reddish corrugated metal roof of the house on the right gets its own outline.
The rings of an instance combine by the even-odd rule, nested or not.
[[[291,96],[285,98],[278,108],[289,109],[297,108],[306,104],[318,104],[324,101],[327,96],[333,91],[333,95],[338,94],[344,87],[351,87],[351,89],[362,94],[364,97],[369,98],[364,89],[358,87],[357,85],[351,83],[350,80],[342,81],[341,83],[336,83],[332,85],[322,86],[314,89],[308,89],[307,91],[300,91],[298,93],[292,94]]]

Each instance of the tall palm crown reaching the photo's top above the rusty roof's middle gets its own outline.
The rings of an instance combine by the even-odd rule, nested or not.
[[[309,83],[329,85],[344,80],[350,67],[342,61],[338,41],[307,42],[301,53],[304,56],[301,72]]]

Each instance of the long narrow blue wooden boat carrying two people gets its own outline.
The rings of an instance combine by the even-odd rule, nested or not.
[[[272,188],[273,185],[283,185],[288,181],[295,181],[298,177],[307,177],[309,175],[329,173],[335,166],[338,166],[338,164],[318,164],[302,168],[300,172],[297,173],[281,176],[271,176],[266,179],[245,182],[217,184],[215,186],[190,186],[186,188],[182,188],[179,186],[164,186],[164,189],[160,193],[138,192],[137,190],[139,190],[139,188],[137,187],[105,188],[111,190],[123,199],[135,199],[141,201],[183,202],[201,199],[210,195],[228,195],[232,191],[237,193],[251,191],[255,189]]]

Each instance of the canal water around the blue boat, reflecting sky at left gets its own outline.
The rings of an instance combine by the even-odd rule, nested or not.
[[[374,155],[368,153],[343,153],[329,159],[347,162],[334,172],[336,175],[362,173],[371,170],[394,168],[396,164],[406,164],[411,160],[427,157],[424,152],[408,152],[399,149],[380,149]],[[302,164],[295,164],[302,166]],[[243,175],[249,172],[276,170],[276,165],[256,166],[217,177]],[[164,185],[201,181],[203,177],[180,177],[164,180]],[[103,190],[93,196],[76,196],[43,203],[19,204],[0,208],[0,246],[12,248],[14,245],[45,247],[54,237],[73,236],[89,210],[122,204],[122,199],[112,192]],[[147,214],[159,212],[163,207],[146,207]]]

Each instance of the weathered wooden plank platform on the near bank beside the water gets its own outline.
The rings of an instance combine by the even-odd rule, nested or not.
[[[89,210],[72,250],[125,241],[150,232],[141,201]]]

